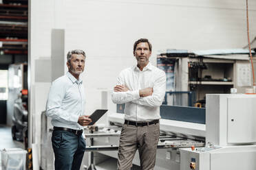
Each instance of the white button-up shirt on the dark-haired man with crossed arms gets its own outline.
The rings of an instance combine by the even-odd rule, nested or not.
[[[151,121],[160,119],[160,106],[166,90],[166,75],[164,71],[150,62],[142,71],[138,66],[132,66],[121,71],[118,85],[129,88],[126,92],[112,93],[114,104],[125,104],[125,119],[129,121]],[[153,94],[140,97],[139,90],[153,88]]]

